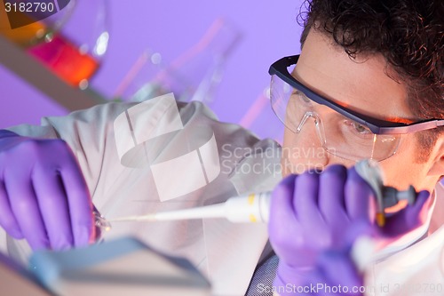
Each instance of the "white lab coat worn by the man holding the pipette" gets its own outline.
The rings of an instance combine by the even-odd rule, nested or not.
[[[133,107],[134,104],[108,103],[77,111],[69,116],[44,118],[41,126],[20,125],[10,130],[20,135],[66,140],[82,168],[92,202],[107,218],[219,203],[230,196],[271,190],[281,180],[280,149],[273,140],[258,140],[239,125],[218,122],[216,117],[198,102],[178,104],[183,124],[179,132],[171,132],[166,138],[154,132],[160,137],[158,142],[153,141],[153,137],[145,137],[145,140],[150,138],[145,142],[147,149],[150,149],[147,152],[148,164],[139,167],[125,166],[122,164],[123,154],[132,151],[131,145],[125,147],[128,139],[124,136],[116,137],[115,129],[118,127],[115,127],[114,123],[115,119],[125,112],[126,116],[131,117],[129,110]],[[152,104],[143,112],[136,112],[138,114],[134,117],[148,118],[138,122],[141,126],[154,124],[162,130],[162,126],[170,120],[168,116],[164,116],[163,107],[162,103]],[[131,129],[135,131],[137,128],[131,126]],[[153,165],[150,164],[157,164],[159,159],[168,159],[175,154],[193,151],[210,139],[211,133],[218,144],[220,172],[217,178],[210,181],[207,176],[206,186],[184,196],[163,198],[160,190],[156,188],[159,184],[155,182]],[[136,135],[135,138],[137,137]],[[202,137],[205,139],[200,139]],[[134,141],[136,140],[138,139]],[[119,144],[119,141],[123,144]],[[194,144],[197,146],[193,147]],[[136,160],[132,162],[135,166],[138,166],[137,159],[132,158]],[[197,171],[194,169],[186,172],[188,180],[200,177],[202,172]],[[165,177],[170,178],[168,175]],[[170,180],[170,186],[174,187],[179,182],[182,180]],[[438,196],[442,198],[443,193],[440,191]],[[440,203],[442,208],[442,202],[437,204]],[[444,216],[435,217],[440,220],[433,223],[442,225],[442,217]],[[28,244],[24,241],[17,242],[1,231],[2,250],[17,260],[26,261]],[[440,228],[440,232],[433,235],[438,236],[438,239],[431,236],[421,244],[430,241],[430,244],[436,244],[436,248],[442,251],[443,232],[443,228]],[[265,225],[233,224],[220,219],[115,223],[105,238],[129,235],[138,236],[163,252],[191,260],[194,266],[208,276],[215,295],[243,295],[267,241]],[[415,247],[422,248],[420,244]],[[427,246],[424,248],[426,250]],[[422,252],[421,250],[416,252]],[[404,252],[400,252],[400,256]],[[442,263],[442,252],[440,256]],[[394,275],[389,270],[402,261],[395,260],[394,256],[391,258],[393,261],[385,260],[385,265],[383,262],[374,268],[378,274],[384,274],[387,281]],[[430,266],[435,270],[435,274],[439,273],[441,283],[444,283],[442,264],[441,268],[435,268],[436,262],[437,260],[431,262]],[[403,275],[402,270],[398,274]],[[375,281],[377,283],[380,279]]]

